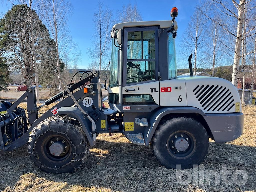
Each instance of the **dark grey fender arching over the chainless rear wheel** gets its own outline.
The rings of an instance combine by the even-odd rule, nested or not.
[[[155,133],[156,127],[158,126],[161,119],[165,115],[177,114],[177,113],[198,113],[198,114],[202,115],[203,117],[206,116],[206,114],[204,112],[202,112],[200,109],[197,109],[195,107],[164,107],[164,108],[161,108],[152,114],[152,116],[150,118],[151,127],[148,127],[144,131],[144,141],[145,141],[146,146],[150,145],[150,142]]]

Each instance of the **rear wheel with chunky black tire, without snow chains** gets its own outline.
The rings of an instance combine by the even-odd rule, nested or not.
[[[188,169],[199,165],[208,153],[209,136],[198,121],[174,118],[159,125],[151,141],[154,155],[166,168]]]

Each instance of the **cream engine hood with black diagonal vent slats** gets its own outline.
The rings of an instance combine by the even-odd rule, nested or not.
[[[178,76],[186,82],[187,104],[205,113],[241,112],[237,88],[229,81],[207,76]]]

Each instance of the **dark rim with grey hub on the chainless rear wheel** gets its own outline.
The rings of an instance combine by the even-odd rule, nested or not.
[[[181,130],[172,133],[166,145],[171,156],[177,159],[185,159],[195,152],[196,139],[190,132]]]

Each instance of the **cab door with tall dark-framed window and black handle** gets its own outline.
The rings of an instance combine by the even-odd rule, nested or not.
[[[159,105],[158,27],[124,28],[122,105]]]

